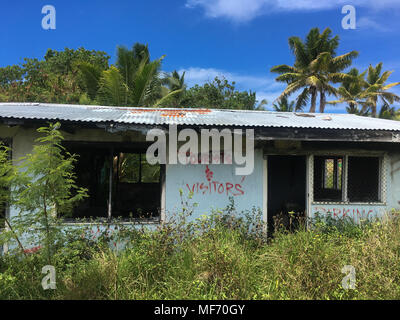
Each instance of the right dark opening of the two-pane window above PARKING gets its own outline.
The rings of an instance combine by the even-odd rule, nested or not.
[[[347,195],[350,202],[379,202],[380,159],[349,157]]]

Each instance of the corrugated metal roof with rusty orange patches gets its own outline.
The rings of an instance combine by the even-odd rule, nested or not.
[[[400,131],[400,121],[352,114],[227,109],[128,108],[46,103],[0,103],[0,118],[149,125],[209,125]]]

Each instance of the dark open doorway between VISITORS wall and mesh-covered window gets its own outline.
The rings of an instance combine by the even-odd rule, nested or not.
[[[268,230],[296,228],[305,210],[306,157],[268,156]]]

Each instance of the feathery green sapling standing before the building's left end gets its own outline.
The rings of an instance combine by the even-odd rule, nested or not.
[[[64,150],[60,124],[38,129],[44,136],[36,140],[31,154],[21,164],[11,181],[11,203],[19,211],[10,225],[13,234],[27,242],[40,244],[51,256],[61,238],[60,217],[71,212],[76,203],[87,197],[87,190],[75,184],[75,155]]]

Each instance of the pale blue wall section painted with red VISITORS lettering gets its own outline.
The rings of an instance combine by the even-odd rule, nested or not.
[[[193,208],[193,218],[211,213],[212,209],[224,209],[232,197],[235,209],[251,210],[263,208],[263,157],[262,151],[256,150],[254,171],[248,176],[235,175],[234,164],[197,164],[168,165],[166,168],[166,216],[181,209],[180,190],[184,198],[193,192],[190,203],[197,203]],[[208,168],[208,170],[207,170]]]

